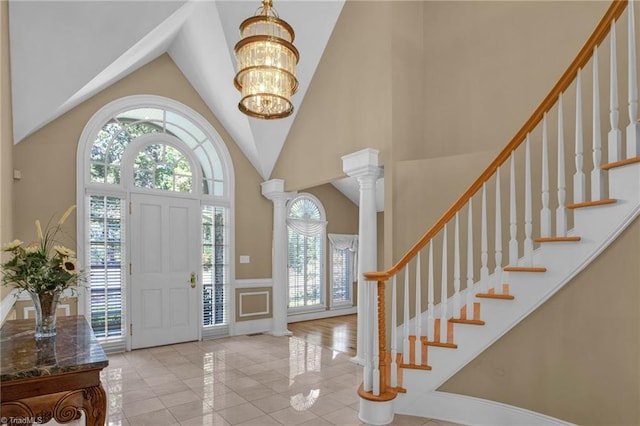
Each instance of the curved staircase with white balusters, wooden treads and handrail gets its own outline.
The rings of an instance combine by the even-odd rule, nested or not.
[[[640,214],[637,18],[633,2],[628,5],[612,3],[531,118],[409,252],[387,271],[365,273],[375,289],[363,301],[371,325],[358,390],[362,421],[388,424],[402,413],[469,424],[565,424],[437,389],[552,297]],[[621,49],[615,25],[623,13],[634,19],[627,19]],[[598,76],[604,49],[612,76],[606,82]],[[621,51],[628,79],[619,84]],[[587,83],[585,67],[592,69]],[[609,88],[607,105],[600,103],[601,86]],[[571,106],[564,99],[568,89],[575,92]],[[626,100],[622,108],[618,99]],[[583,111],[585,104],[590,111]],[[572,133],[567,117],[575,120],[567,126]],[[606,132],[604,122],[610,124]],[[591,129],[587,149],[585,128]],[[573,155],[565,156],[570,150]],[[589,170],[586,156],[592,158]],[[567,178],[567,170],[573,176]]]

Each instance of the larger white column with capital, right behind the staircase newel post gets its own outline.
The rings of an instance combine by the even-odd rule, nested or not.
[[[358,332],[357,352],[353,362],[365,365],[365,358],[372,356],[373,326],[376,286],[367,285],[362,275],[378,268],[378,234],[376,209],[376,181],[381,174],[378,167],[378,150],[366,148],[342,157],[342,170],[358,179],[360,184],[360,210],[358,224]],[[369,364],[370,365],[370,364]],[[365,377],[367,375],[365,374]],[[365,388],[367,383],[365,380]],[[365,389],[366,390],[366,389]]]

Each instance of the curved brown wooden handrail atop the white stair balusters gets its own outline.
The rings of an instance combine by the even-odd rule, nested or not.
[[[422,238],[411,247],[411,249],[391,268],[386,271],[380,272],[365,272],[364,277],[368,281],[386,281],[391,278],[394,274],[400,271],[404,266],[413,259],[416,254],[427,245],[429,241],[433,237],[435,237],[438,232],[444,228],[444,225],[449,223],[451,219],[455,216],[456,212],[460,211],[462,207],[464,207],[467,202],[478,192],[482,185],[488,181],[491,176],[498,170],[500,167],[511,155],[511,152],[514,151],[520,144],[525,140],[528,133],[532,132],[533,129],[540,123],[544,114],[549,111],[556,100],[560,96],[561,93],[564,93],[569,85],[573,82],[574,78],[578,74],[578,70],[583,68],[587,62],[591,59],[593,54],[593,49],[597,47],[604,38],[609,33],[611,22],[617,20],[622,12],[627,7],[628,0],[614,0],[609,6],[609,9],[602,17],[598,26],[593,31],[591,36],[587,39],[587,42],[584,44],[578,55],[575,57],[571,65],[567,68],[567,70],[562,74],[558,82],[553,86],[553,89],[549,92],[549,94],[544,98],[542,103],[538,106],[538,108],[534,111],[534,113],[529,117],[529,119],[525,122],[524,126],[515,134],[515,136],[511,139],[511,141],[503,148],[503,150],[498,154],[498,156],[493,160],[493,162],[487,167],[487,169],[478,177],[471,186],[458,198],[458,200],[451,206],[449,209],[438,219],[438,221],[427,231],[424,233]]]

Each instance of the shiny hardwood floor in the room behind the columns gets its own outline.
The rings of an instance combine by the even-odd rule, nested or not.
[[[289,323],[294,336],[322,347],[356,354],[357,315]]]

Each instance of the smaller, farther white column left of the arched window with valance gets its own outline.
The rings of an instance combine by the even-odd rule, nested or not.
[[[291,193],[284,192],[284,180],[271,179],[261,184],[262,195],[273,201],[273,242],[271,275],[273,280],[274,336],[290,336],[287,329],[287,200]]]

